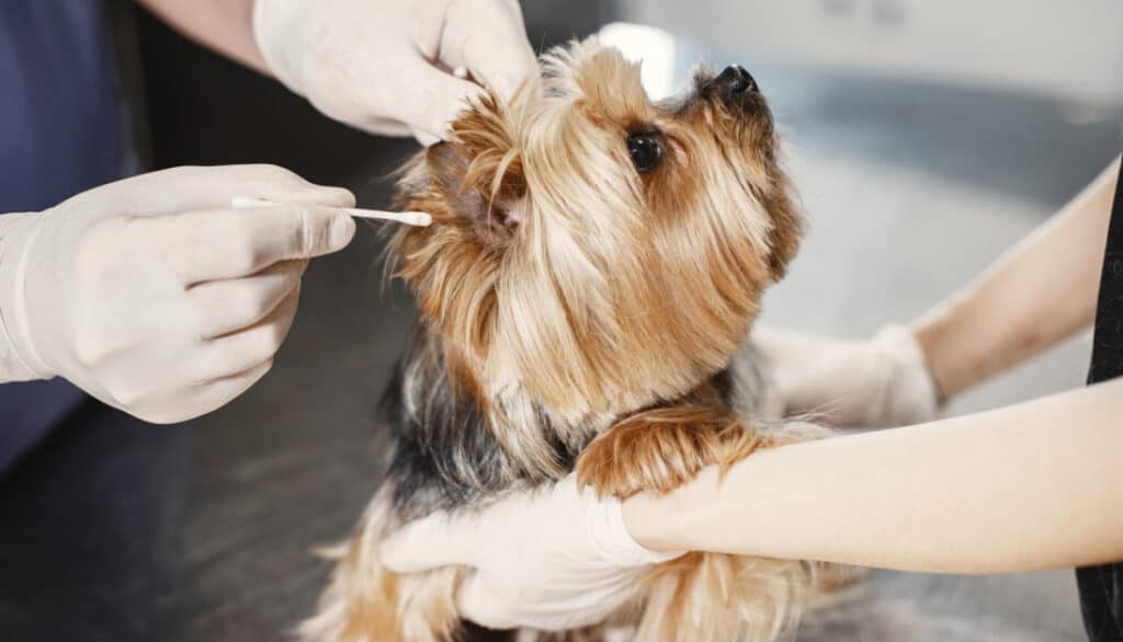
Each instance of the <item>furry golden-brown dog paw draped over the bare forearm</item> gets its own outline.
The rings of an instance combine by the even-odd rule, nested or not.
[[[577,459],[577,484],[601,497],[659,494],[706,466],[729,466],[761,446],[761,437],[721,405],[643,411],[617,423]]]

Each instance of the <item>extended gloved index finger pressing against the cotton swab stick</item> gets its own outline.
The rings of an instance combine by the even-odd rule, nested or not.
[[[186,286],[248,276],[282,260],[338,251],[355,236],[355,221],[347,213],[294,202],[188,212],[150,224],[161,227],[158,233],[166,239],[166,247],[159,249]]]

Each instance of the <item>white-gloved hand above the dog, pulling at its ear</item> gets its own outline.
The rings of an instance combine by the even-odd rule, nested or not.
[[[266,65],[323,113],[372,134],[431,144],[480,93],[537,76],[515,0],[256,0]]]

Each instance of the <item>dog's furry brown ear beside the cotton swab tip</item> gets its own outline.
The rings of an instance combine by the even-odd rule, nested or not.
[[[399,228],[387,264],[422,314],[473,361],[491,345],[499,265],[527,211],[511,140],[503,112],[485,98],[453,125],[447,143],[418,154],[399,182],[396,204],[428,212],[432,224]]]

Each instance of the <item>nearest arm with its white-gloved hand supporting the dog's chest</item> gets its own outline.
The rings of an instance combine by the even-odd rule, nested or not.
[[[480,511],[433,513],[382,554],[398,572],[471,567],[457,596],[465,617],[547,629],[557,613],[596,621],[622,604],[629,591],[603,587],[633,581],[643,550],[960,574],[1104,562],[1123,558],[1120,416],[1123,379],[757,451],[723,479],[711,468],[661,497],[599,501],[570,476]],[[601,545],[605,532],[622,548]]]

